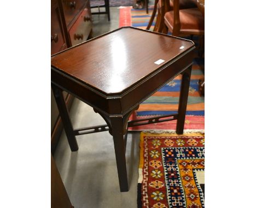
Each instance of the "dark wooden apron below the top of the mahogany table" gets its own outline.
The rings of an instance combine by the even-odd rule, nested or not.
[[[192,64],[193,56],[189,52],[120,96],[103,95],[54,68],[51,69],[51,82],[107,116],[125,115]]]

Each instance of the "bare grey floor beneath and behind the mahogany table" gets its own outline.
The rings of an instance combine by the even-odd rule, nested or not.
[[[119,9],[110,8],[107,15],[94,15],[93,36],[117,29]],[[71,108],[74,128],[105,124],[100,115],[82,101],[74,100]],[[75,208],[130,208],[137,207],[137,180],[139,162],[139,132],[129,133],[126,161],[129,177],[129,192],[119,191],[114,144],[106,132],[78,136],[79,150],[71,152],[65,132],[62,132],[54,158],[67,189],[69,199]]]

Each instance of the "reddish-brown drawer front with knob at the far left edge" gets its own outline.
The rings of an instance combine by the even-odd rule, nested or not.
[[[66,48],[57,1],[51,1],[51,54]]]

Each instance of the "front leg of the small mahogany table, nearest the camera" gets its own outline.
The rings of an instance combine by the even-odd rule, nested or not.
[[[110,121],[112,125],[120,191],[127,192],[129,191],[129,187],[125,160],[124,119],[123,117],[110,117]]]

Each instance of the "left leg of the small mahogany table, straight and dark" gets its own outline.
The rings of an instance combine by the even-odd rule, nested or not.
[[[69,147],[71,151],[77,151],[78,150],[77,139],[75,139],[73,125],[71,123],[71,119],[69,118],[69,113],[68,113],[65,99],[62,94],[62,90],[54,84],[51,84],[51,88],[53,89],[53,94],[55,97],[57,107],[59,109],[63,127],[66,132]]]

